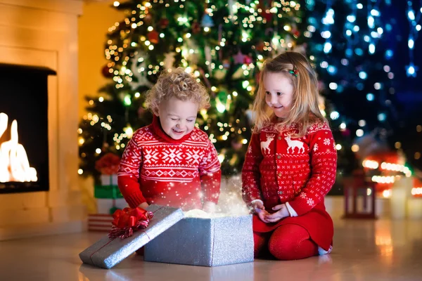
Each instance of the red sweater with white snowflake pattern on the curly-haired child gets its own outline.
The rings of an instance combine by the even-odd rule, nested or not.
[[[180,140],[162,131],[158,117],[137,130],[124,150],[117,181],[129,207],[159,204],[202,209],[217,204],[221,170],[214,145],[200,129]]]

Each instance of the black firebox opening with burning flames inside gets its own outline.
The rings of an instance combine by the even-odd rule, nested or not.
[[[49,190],[48,77],[0,64],[0,193]]]

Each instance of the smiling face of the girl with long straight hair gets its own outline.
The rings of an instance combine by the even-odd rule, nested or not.
[[[264,75],[265,103],[276,117],[286,117],[293,100],[293,85],[287,74],[267,72]]]

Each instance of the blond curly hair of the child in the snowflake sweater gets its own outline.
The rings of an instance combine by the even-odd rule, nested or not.
[[[173,97],[198,103],[198,110],[210,107],[205,86],[181,67],[161,72],[157,83],[146,93],[146,107],[155,113],[160,103]]]

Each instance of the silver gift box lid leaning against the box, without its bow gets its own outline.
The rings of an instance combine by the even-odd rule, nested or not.
[[[138,230],[125,239],[120,237],[110,239],[105,236],[82,251],[79,258],[91,266],[112,268],[184,218],[183,211],[177,208],[150,205],[146,210],[154,213],[147,228]]]

